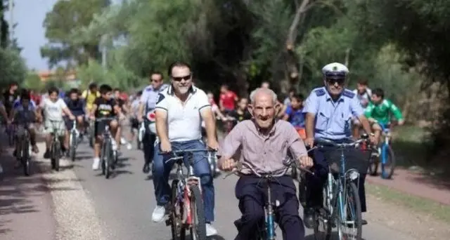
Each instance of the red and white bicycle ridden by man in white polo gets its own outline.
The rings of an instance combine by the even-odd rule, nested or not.
[[[172,180],[172,196],[169,204],[169,219],[166,225],[171,226],[172,239],[186,239],[189,229],[192,239],[206,239],[205,208],[201,191],[200,178],[194,175],[194,152],[209,152],[207,149],[186,149],[172,151],[173,156],[165,163],[175,161],[176,178]],[[164,155],[167,153],[160,153]],[[184,159],[187,159],[188,174],[183,170]]]

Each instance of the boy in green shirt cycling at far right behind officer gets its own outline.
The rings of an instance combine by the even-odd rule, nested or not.
[[[385,99],[385,92],[381,88],[375,88],[372,91],[371,101],[369,102],[364,114],[371,123],[372,131],[375,133],[375,139],[380,140],[381,125],[387,125],[390,122],[391,114],[394,114],[398,124],[404,124],[404,118],[400,109],[390,100]]]

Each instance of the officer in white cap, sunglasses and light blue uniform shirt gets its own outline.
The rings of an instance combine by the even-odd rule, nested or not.
[[[361,121],[366,133],[371,133],[371,127],[364,116],[364,111],[356,95],[345,88],[349,70],[345,65],[333,62],[322,69],[325,86],[315,88],[305,102],[303,112],[306,113],[305,145],[312,147],[314,138],[326,138],[335,142],[344,142],[352,135],[352,116]],[[370,140],[376,143],[373,133]],[[315,225],[315,208],[322,205],[322,189],[326,182],[328,165],[324,158],[325,149],[316,149],[313,153],[314,175],[307,177],[307,206],[304,208],[304,223],[308,228]],[[366,197],[364,192],[365,175],[361,175],[359,184],[359,197],[361,210],[366,211]],[[363,220],[363,224],[367,224]]]

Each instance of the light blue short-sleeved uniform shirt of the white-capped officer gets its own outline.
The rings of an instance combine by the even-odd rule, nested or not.
[[[304,113],[315,114],[314,138],[340,140],[352,135],[352,116],[361,116],[364,110],[356,95],[345,89],[333,101],[325,87],[315,88],[305,101]]]

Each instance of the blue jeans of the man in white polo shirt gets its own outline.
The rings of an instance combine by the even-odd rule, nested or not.
[[[171,142],[172,150],[184,149],[205,149],[205,144],[201,140],[190,140],[184,142]],[[174,161],[165,163],[171,155],[160,155],[160,144],[155,147],[153,156],[153,185],[155,187],[155,198],[158,206],[165,206],[170,201],[169,174],[174,166]],[[212,184],[212,174],[210,164],[207,161],[206,152],[194,152],[193,155],[194,174],[200,178],[202,185],[203,203],[205,204],[206,222],[214,221],[214,185]],[[184,164],[188,166],[187,159]]]

